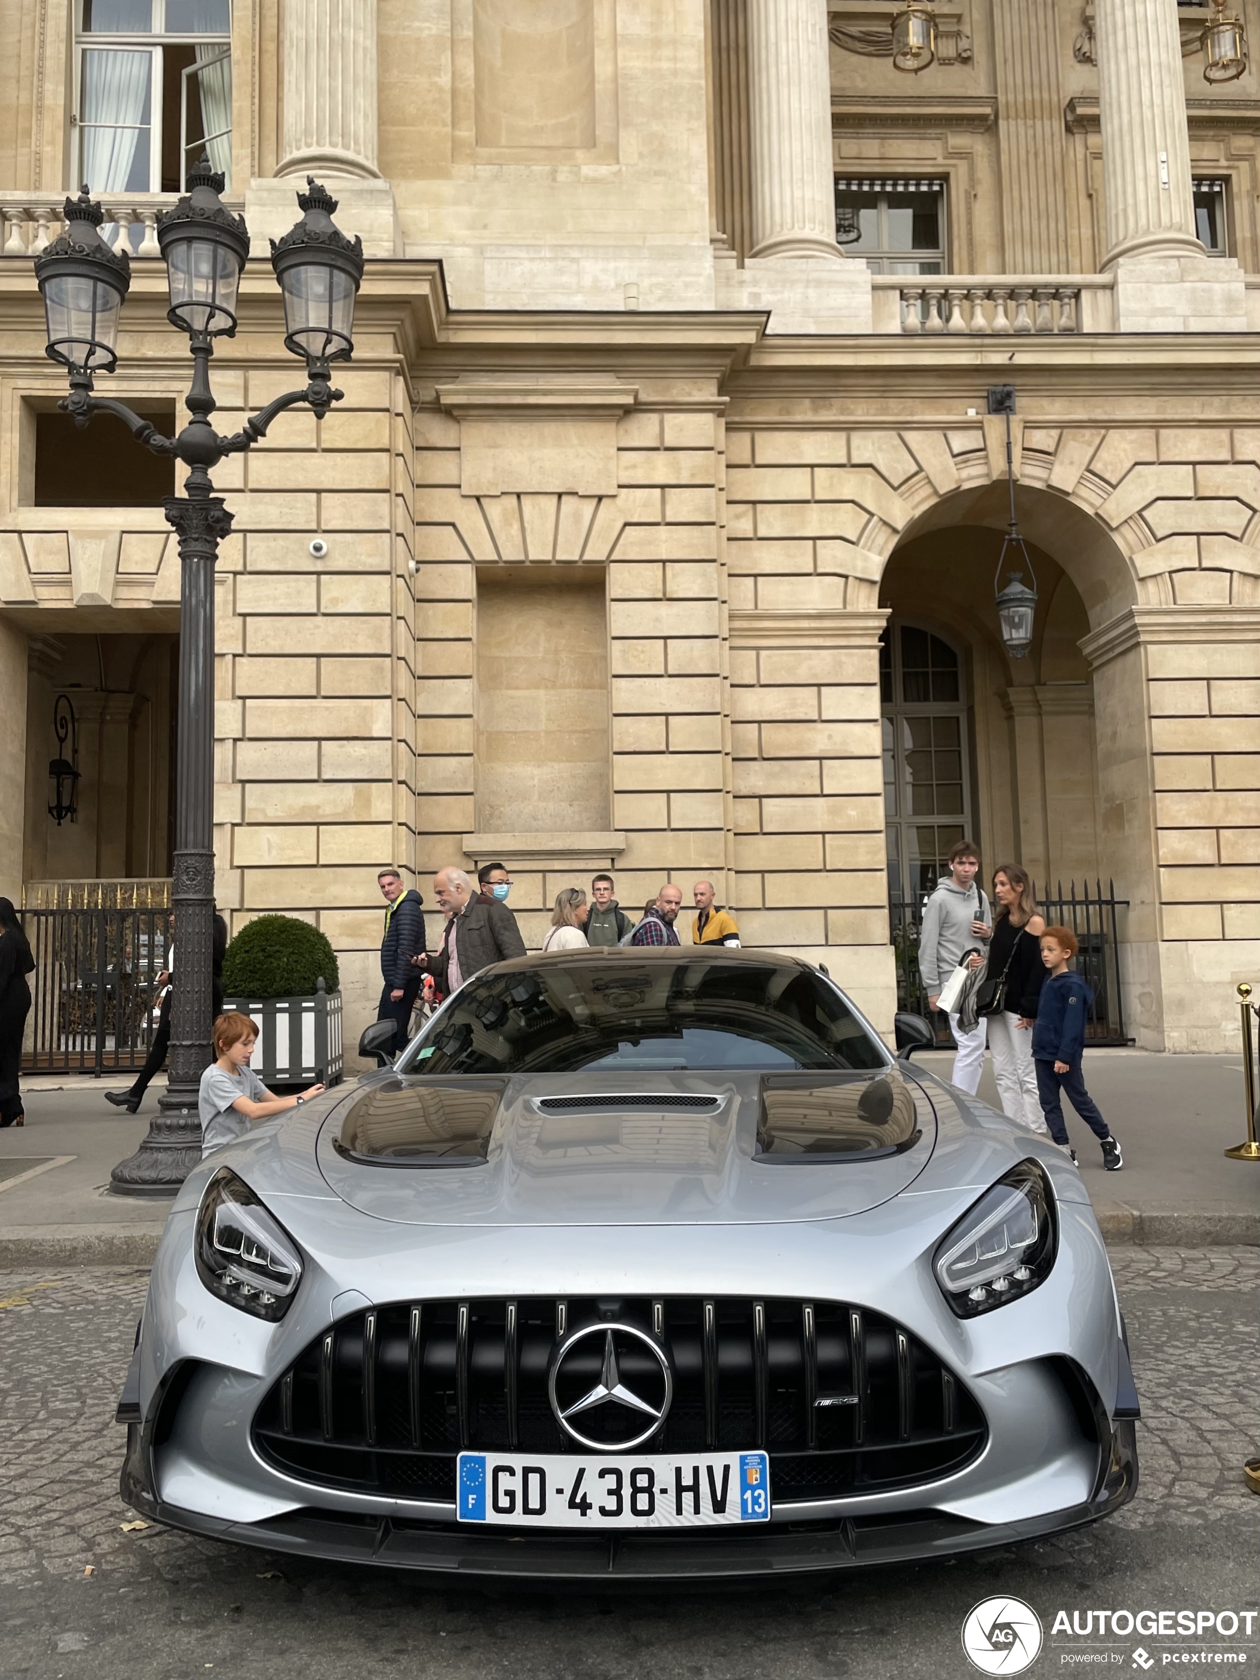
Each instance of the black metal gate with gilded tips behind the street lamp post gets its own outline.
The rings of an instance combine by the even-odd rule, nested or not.
[[[22,1068],[138,1072],[156,1026],[170,909],[30,909],[18,916],[35,958]]]

